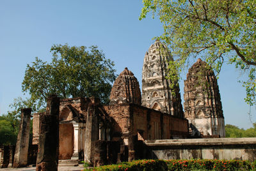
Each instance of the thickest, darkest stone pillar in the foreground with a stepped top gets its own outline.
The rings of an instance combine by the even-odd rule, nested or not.
[[[45,114],[40,115],[36,171],[58,170],[60,98],[47,98]]]

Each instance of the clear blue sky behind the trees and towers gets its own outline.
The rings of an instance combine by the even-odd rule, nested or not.
[[[163,33],[161,22],[151,15],[139,20],[142,7],[138,0],[1,0],[0,115],[12,110],[9,105],[14,98],[27,96],[21,88],[27,64],[35,57],[50,62],[49,51],[54,44],[97,45],[115,62],[116,74],[127,67],[141,86],[145,52],[154,43],[152,38]],[[243,79],[239,70],[225,64],[218,85],[225,124],[247,129],[256,122],[256,110],[250,110],[244,102],[245,89],[237,82]],[[183,82],[180,81],[182,103]]]

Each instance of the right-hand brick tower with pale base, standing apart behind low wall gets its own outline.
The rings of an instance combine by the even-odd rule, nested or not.
[[[214,71],[198,59],[184,80],[184,116],[201,135],[225,137],[220,92]]]

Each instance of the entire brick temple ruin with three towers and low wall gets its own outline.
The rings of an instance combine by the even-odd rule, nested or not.
[[[50,122],[45,120],[51,113],[47,103],[48,112],[33,114],[28,164],[35,163],[38,146],[38,170],[49,164],[44,160],[51,153],[44,153],[51,149],[46,138],[54,135],[52,141],[58,142],[58,147],[52,145],[56,151],[51,153],[55,169],[58,164],[78,165],[81,160],[94,166],[142,158],[255,160],[256,138],[216,139],[225,137],[225,123],[211,68],[198,59],[189,69],[184,81],[183,112],[179,86],[170,89],[172,80],[166,79],[170,60],[163,43],[156,41],[150,46],[143,63],[142,96],[137,78],[125,68],[113,84],[109,105],[102,105],[94,97],[60,99],[52,106],[52,115],[58,119]],[[47,133],[51,125],[58,125],[52,131],[54,135]],[[8,163],[12,166],[13,149],[0,147],[0,167]]]

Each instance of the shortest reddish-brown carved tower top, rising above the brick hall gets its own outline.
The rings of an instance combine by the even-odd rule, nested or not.
[[[141,105],[139,82],[127,68],[116,78],[110,94],[110,105],[121,103]]]

